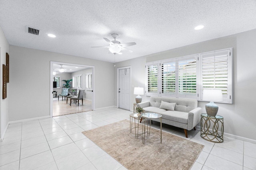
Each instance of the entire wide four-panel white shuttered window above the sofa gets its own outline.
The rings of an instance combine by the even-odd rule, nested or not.
[[[147,96],[202,100],[203,89],[216,88],[232,103],[231,82],[232,48],[146,63]]]

